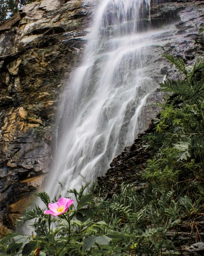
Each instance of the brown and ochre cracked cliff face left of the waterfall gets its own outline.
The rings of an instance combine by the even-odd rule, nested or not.
[[[62,81],[80,61],[93,8],[42,0],[0,26],[0,222],[9,228],[48,172]]]

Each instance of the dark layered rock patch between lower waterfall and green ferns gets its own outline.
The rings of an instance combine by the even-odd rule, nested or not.
[[[152,129],[149,128],[147,133]],[[110,169],[104,176],[98,177],[97,188],[104,189],[107,198],[111,198],[114,193],[120,192],[122,183],[135,183],[137,190],[145,186],[141,173],[147,166],[147,159],[151,153],[147,151],[147,145],[143,143],[141,134],[135,143],[125,150],[118,157],[114,158],[110,164]]]

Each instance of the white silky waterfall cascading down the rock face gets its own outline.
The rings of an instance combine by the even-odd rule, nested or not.
[[[142,106],[158,86],[150,74],[156,32],[149,18],[150,0],[101,0],[82,65],[59,106],[52,197],[63,195],[59,183],[66,191],[103,175],[136,139]]]

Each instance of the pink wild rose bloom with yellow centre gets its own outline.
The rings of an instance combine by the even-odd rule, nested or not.
[[[71,204],[74,204],[74,200],[69,198],[59,198],[56,203],[48,204],[49,210],[44,211],[44,213],[58,216],[63,214],[64,212],[67,212]]]

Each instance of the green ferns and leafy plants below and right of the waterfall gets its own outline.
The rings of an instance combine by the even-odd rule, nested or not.
[[[55,218],[38,206],[27,209],[19,224],[34,219],[35,232],[8,234],[0,240],[1,255],[181,255],[169,231],[176,238],[182,220],[204,215],[204,62],[187,68],[182,59],[166,58],[183,78],[161,84],[169,96],[153,133],[144,137],[152,152],[144,189],[122,184],[120,195],[107,199],[102,190],[94,194],[94,186],[85,194],[83,186],[68,192],[77,207]],[[49,196],[38,196],[47,208]]]

